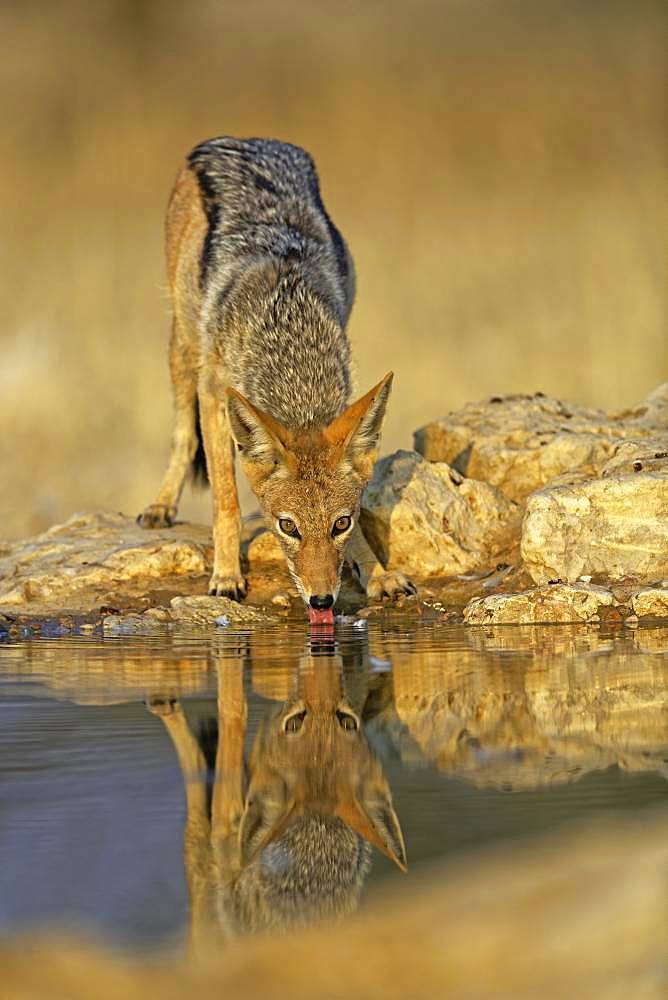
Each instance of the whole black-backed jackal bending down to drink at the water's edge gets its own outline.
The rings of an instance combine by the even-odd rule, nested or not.
[[[205,458],[209,593],[241,600],[236,442],[312,621],[332,620],[344,553],[369,596],[413,593],[402,573],[382,570],[357,524],[392,374],[348,405],[353,264],[311,157],[270,139],[196,146],[172,191],[166,242],[175,424],[140,524],[172,523],[188,469],[204,471]]]

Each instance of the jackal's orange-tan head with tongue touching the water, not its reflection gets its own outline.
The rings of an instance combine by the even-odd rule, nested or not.
[[[371,478],[392,373],[326,427],[289,430],[228,389],[232,434],[311,621],[332,621],[345,547]]]

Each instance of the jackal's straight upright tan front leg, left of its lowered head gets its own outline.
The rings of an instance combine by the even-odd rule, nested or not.
[[[200,374],[198,396],[206,464],[213,493],[213,576],[209,594],[240,601],[246,595],[239,543],[241,515],[234,472],[234,442],[225,407],[224,386],[213,366]]]

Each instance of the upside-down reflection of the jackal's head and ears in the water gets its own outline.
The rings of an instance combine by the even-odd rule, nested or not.
[[[295,873],[320,866],[325,895],[338,887],[351,903],[368,867],[363,842],[406,870],[390,789],[360,714],[343,689],[340,659],[304,657],[295,697],[265,716],[253,744],[239,828],[242,868],[280,841]]]

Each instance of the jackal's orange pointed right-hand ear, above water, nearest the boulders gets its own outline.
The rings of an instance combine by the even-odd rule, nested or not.
[[[393,377],[388,372],[324,430],[325,438],[336,446],[338,459],[347,459],[364,480],[373,472]]]

